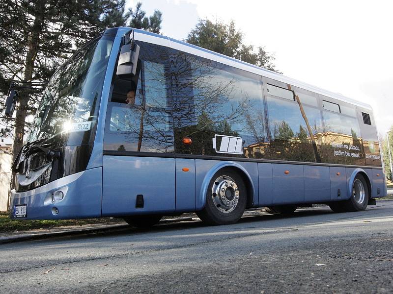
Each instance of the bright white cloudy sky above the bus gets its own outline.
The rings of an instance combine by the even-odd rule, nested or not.
[[[393,1],[140,1],[147,15],[163,13],[162,33],[178,40],[198,19],[234,20],[284,75],[370,104],[382,136],[393,125]]]

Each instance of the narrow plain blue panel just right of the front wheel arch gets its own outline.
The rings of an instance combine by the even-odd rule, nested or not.
[[[273,171],[271,163],[258,163],[259,206],[273,204]]]

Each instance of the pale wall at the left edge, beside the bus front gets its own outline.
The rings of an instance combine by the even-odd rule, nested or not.
[[[10,147],[0,147],[0,211],[7,210],[9,180],[11,177]]]

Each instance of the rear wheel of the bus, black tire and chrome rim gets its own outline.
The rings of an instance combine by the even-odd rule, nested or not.
[[[334,212],[363,211],[368,204],[368,188],[365,177],[362,174],[357,174],[352,185],[351,197],[345,201],[329,203],[329,207]]]

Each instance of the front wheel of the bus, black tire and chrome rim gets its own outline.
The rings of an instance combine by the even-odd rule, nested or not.
[[[223,188],[225,192],[222,191]],[[213,196],[214,194],[216,196]],[[197,215],[206,224],[231,224],[239,221],[246,204],[247,189],[242,177],[232,169],[223,169],[216,172],[211,179],[207,188],[205,207],[198,211]]]

